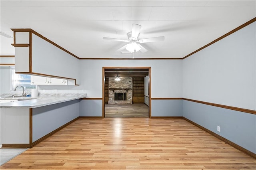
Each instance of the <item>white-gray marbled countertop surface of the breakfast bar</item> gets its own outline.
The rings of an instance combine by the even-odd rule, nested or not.
[[[1,103],[0,108],[37,108],[87,97],[86,93],[41,94],[36,99],[33,97],[4,97],[11,95],[2,95],[0,99],[23,99],[23,101]]]

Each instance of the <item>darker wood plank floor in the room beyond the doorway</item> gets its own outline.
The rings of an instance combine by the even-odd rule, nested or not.
[[[148,106],[144,103],[132,105],[105,104],[105,117],[149,117]]]

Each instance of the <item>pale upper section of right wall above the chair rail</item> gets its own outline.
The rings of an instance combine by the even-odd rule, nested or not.
[[[256,22],[183,60],[183,98],[256,110]]]

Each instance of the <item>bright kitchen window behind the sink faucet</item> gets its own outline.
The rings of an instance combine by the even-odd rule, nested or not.
[[[11,69],[11,90],[15,89],[18,85],[22,85],[24,90],[36,89],[36,85],[30,85],[30,75],[28,74],[16,74],[14,69]],[[22,88],[18,87],[17,91],[22,91]]]

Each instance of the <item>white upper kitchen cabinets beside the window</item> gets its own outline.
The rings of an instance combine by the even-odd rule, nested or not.
[[[67,85],[67,80],[31,75],[31,84],[32,85]]]

